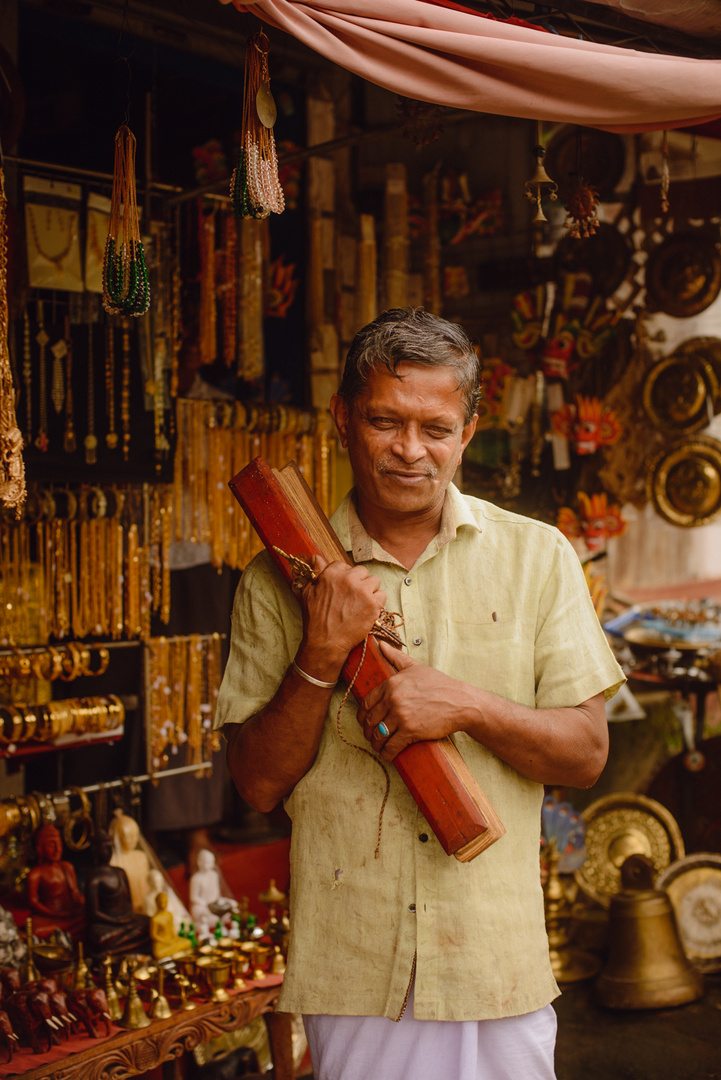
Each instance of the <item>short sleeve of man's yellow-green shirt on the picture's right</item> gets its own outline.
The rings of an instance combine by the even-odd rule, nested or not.
[[[539,605],[535,638],[538,708],[612,698],[626,677],[596,615],[581,561],[558,532]]]

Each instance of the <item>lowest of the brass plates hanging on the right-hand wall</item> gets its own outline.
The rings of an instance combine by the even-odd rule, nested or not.
[[[708,435],[663,450],[651,462],[649,498],[671,525],[694,528],[721,514],[721,443]]]

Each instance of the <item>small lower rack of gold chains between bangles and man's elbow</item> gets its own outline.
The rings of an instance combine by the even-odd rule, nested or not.
[[[148,772],[153,775],[185,752],[201,766],[220,748],[213,730],[220,687],[219,634],[151,637],[146,642]]]

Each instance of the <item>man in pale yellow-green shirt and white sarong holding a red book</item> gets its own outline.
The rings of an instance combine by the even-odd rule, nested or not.
[[[478,383],[452,323],[364,327],[331,402],[356,481],[332,524],[356,565],[317,559],[299,606],[263,553],[235,599],[216,723],[241,795],[293,820],[280,1005],[303,1013],[315,1080],[554,1076],[543,784],[596,781],[623,674],[564,538],[451,483]],[[396,674],[356,716],[337,684],[383,608],[408,651],[381,646]],[[448,734],[506,827],[463,864],[386,764]]]

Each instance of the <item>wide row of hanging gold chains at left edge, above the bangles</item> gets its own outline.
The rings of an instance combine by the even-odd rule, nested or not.
[[[171,613],[168,485],[38,488],[0,521],[0,646],[150,635]]]

